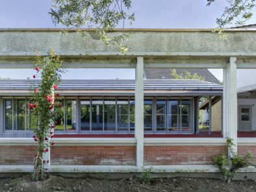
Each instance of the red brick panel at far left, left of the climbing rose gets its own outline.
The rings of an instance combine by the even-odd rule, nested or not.
[[[32,165],[36,146],[0,146],[0,165]]]

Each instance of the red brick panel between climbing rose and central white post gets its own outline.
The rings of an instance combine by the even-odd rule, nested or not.
[[[136,165],[136,147],[54,146],[51,165]]]

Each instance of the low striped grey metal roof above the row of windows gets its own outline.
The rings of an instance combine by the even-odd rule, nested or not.
[[[0,90],[29,90],[40,80],[0,80]],[[62,80],[58,90],[134,90],[134,80]],[[144,90],[222,90],[220,84],[201,80],[144,80]]]

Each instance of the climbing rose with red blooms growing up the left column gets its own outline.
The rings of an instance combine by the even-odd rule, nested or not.
[[[55,94],[61,81],[62,61],[51,49],[46,57],[37,54],[34,62],[35,75],[33,78],[41,78],[40,84],[31,81],[31,101],[29,108],[36,121],[34,127],[34,141],[37,143],[37,154],[34,158],[34,171],[32,180],[44,179],[44,165],[49,163],[47,153],[51,146],[55,145],[51,139],[54,137],[56,119],[62,114],[62,97]]]

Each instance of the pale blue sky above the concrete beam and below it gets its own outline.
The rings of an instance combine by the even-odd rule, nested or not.
[[[135,14],[133,25],[125,28],[155,29],[212,29],[216,18],[224,11],[225,1],[214,1],[206,6],[206,0],[133,0],[131,12]],[[48,14],[51,0],[0,0],[0,28],[55,28]],[[256,23],[253,18],[246,24]],[[210,69],[222,80],[221,69]],[[256,83],[255,70],[238,70],[238,87]],[[32,69],[0,69],[0,77],[32,77]],[[243,77],[250,77],[243,78]],[[68,69],[62,78],[134,78],[134,69]]]

